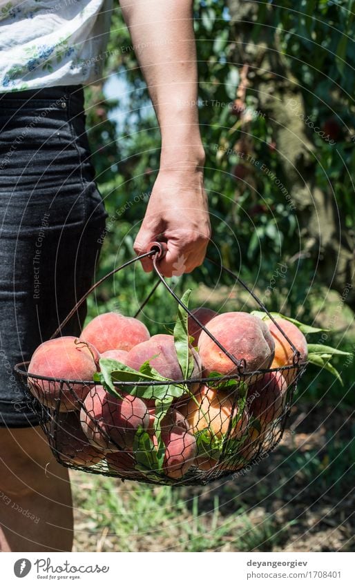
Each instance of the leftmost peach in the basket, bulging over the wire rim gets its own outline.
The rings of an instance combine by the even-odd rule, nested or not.
[[[50,378],[66,380],[93,380],[98,369],[99,355],[92,344],[86,344],[75,336],[63,336],[43,342],[32,355],[28,372]],[[74,383],[68,385],[28,378],[30,390],[41,403],[55,409],[59,400],[59,411],[74,411],[80,408],[90,386]],[[77,398],[73,394],[76,393]]]

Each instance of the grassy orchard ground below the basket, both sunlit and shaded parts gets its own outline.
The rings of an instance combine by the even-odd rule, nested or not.
[[[318,447],[281,445],[245,476],[207,487],[155,487],[73,472],[75,547],[348,551],[355,447],[354,430],[342,427],[342,420],[343,413],[333,417],[334,430],[321,436]]]

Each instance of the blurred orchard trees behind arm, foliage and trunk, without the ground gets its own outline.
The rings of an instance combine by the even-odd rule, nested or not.
[[[330,327],[327,343],[352,353],[354,6],[194,4],[209,257],[242,276],[269,309]],[[88,135],[108,212],[97,277],[133,256],[159,169],[160,133],[137,61],[142,50],[133,48],[115,8],[104,82],[86,88]],[[90,299],[90,316],[112,309],[133,315],[154,282],[140,266],[117,273]],[[178,293],[191,286],[196,303],[219,311],[255,309],[208,262],[173,286]],[[161,286],[142,318],[152,333],[173,324],[175,302]],[[353,365],[346,378],[352,386]],[[318,397],[331,382],[321,373],[307,392]]]

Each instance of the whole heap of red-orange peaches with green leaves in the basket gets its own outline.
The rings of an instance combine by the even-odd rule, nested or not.
[[[327,364],[325,346],[307,346],[301,331],[319,330],[279,314],[275,323],[260,312],[191,313],[217,343],[179,306],[171,334],[151,336],[140,320],[104,313],[80,338],[37,348],[28,384],[48,409],[61,462],[125,478],[180,479],[240,469],[272,447],[299,372],[278,326],[300,363]]]

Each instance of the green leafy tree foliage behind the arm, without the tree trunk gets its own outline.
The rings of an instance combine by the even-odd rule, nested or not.
[[[315,184],[329,188],[329,181],[332,182],[332,191],[348,227],[353,224],[354,210],[349,172],[355,165],[352,103],[355,52],[351,38],[354,6],[354,1],[303,0],[295,10],[290,0],[282,6],[259,3],[258,17],[251,25],[251,38],[262,35],[291,64],[305,111],[314,123],[322,127],[335,121],[339,127],[332,148],[315,133],[310,133],[309,139],[318,157]],[[242,67],[233,62],[233,22],[226,6],[216,0],[195,0],[194,17],[200,77],[199,116],[207,155],[205,179],[213,223],[214,244],[209,248],[209,256],[237,273],[240,271],[249,286],[261,292],[269,310],[296,316],[297,322],[310,322],[310,316],[316,314],[315,302],[323,295],[322,284],[317,275],[314,278],[314,261],[300,254],[298,218],[276,188],[273,177],[278,177],[285,186],[287,177],[282,177],[280,154],[272,148],[273,131],[264,117],[253,117],[249,126],[251,155],[260,162],[259,166],[252,158],[243,162],[252,171],[252,181],[240,181],[234,174],[234,168],[240,163],[237,145],[245,136],[238,117],[231,112]],[[107,99],[105,92],[86,89],[93,163],[108,211],[97,277],[133,257],[133,242],[160,160],[157,121],[119,8],[113,11],[106,75],[125,84],[126,91],[122,106],[117,99]],[[258,103],[256,97],[247,90],[245,99],[252,112]],[[124,108],[124,115],[117,124],[115,115],[119,106],[121,113]],[[260,170],[261,165],[267,171]],[[278,263],[287,266],[285,273],[278,271]],[[270,286],[271,282],[275,284]],[[88,300],[89,317],[97,314],[97,304],[100,311],[134,315],[154,283],[153,275],[144,273],[140,266],[120,271],[100,286],[95,298]],[[235,284],[231,277],[220,275],[218,268],[206,262],[193,275],[175,278],[172,285],[181,296],[188,286],[195,288],[198,283],[211,287],[217,283],[227,287]],[[236,305],[233,309],[240,309]],[[160,285],[140,318],[155,334],[172,331],[175,313],[175,300]],[[338,366],[341,367],[340,362]],[[351,370],[347,369],[345,374]],[[312,367],[307,372],[312,372]],[[330,375],[326,377],[323,369],[311,385],[311,389],[318,390],[310,392],[320,392],[320,380],[326,386],[331,385]],[[348,378],[351,382],[350,374]]]

